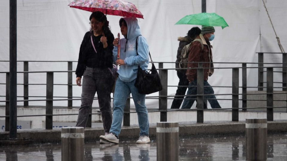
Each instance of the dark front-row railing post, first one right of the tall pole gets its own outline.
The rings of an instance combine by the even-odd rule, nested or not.
[[[47,72],[46,82],[46,129],[53,129],[54,73]],[[51,100],[48,100],[51,99]]]

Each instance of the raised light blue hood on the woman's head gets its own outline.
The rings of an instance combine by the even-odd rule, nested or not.
[[[138,35],[141,35],[140,27],[138,26],[138,19],[135,17],[123,17],[128,27],[126,39],[136,39]]]

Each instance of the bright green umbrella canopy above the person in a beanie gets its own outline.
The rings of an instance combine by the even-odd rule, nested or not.
[[[198,13],[184,16],[176,24],[193,24],[202,26],[220,26],[222,29],[228,27],[224,18],[216,13]]]

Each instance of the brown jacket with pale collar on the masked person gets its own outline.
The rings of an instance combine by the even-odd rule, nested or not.
[[[193,41],[190,46],[190,52],[188,55],[188,62],[213,62],[212,61],[212,52],[211,45],[209,41],[206,41],[202,34],[200,34],[197,38],[201,39],[203,44],[203,49],[201,47],[201,43],[199,41]],[[197,39],[196,38],[196,39]],[[188,68],[197,68],[197,63],[188,63]],[[213,68],[213,63],[203,63],[204,68]],[[213,74],[214,69],[204,69],[204,81],[207,81],[208,76]],[[188,81],[193,81],[197,78],[197,69],[187,69],[186,72]]]

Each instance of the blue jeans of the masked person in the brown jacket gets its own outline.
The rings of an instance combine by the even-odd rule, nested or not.
[[[197,86],[197,80],[195,79],[194,81],[189,83],[189,86]],[[204,94],[214,94],[213,88],[207,81],[204,81],[203,86],[204,86],[203,88]],[[196,95],[196,94],[197,94],[197,87],[188,87],[187,95]],[[196,98],[196,96],[186,96],[185,98]],[[204,99],[208,100],[211,108],[213,109],[221,108],[218,101],[215,100],[216,97],[214,95],[204,96]],[[195,101],[194,99],[184,99],[181,109],[190,109],[194,101]]]

